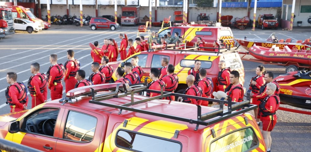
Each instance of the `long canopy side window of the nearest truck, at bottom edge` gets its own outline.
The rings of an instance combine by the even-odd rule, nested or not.
[[[182,147],[178,141],[128,130],[118,131],[115,144],[131,151],[148,152],[180,152]]]

